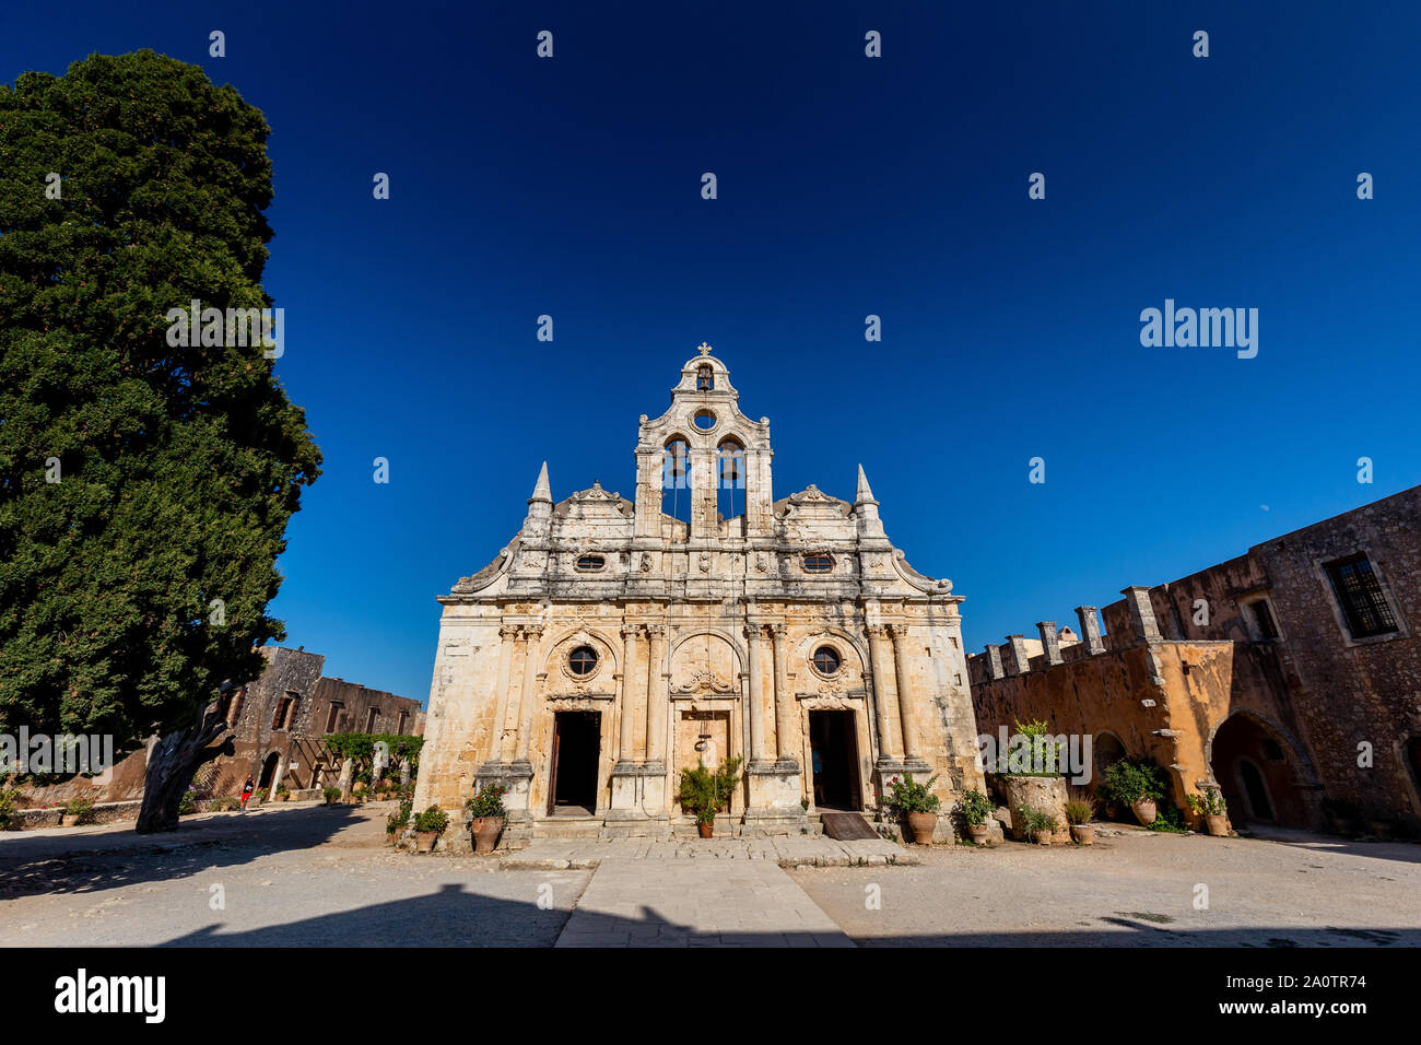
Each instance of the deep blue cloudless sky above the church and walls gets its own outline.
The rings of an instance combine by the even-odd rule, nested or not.
[[[1421,482],[1421,7],[881,7],[7,0],[0,74],[152,47],[271,124],[279,374],[325,455],[273,613],[331,675],[426,698],[435,596],[541,461],[630,495],[702,340],[776,495],[861,462],[969,648]],[[1258,358],[1142,348],[1165,297],[1259,309]]]

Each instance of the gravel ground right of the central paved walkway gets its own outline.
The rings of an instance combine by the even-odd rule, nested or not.
[[[1121,829],[1088,847],[914,852],[915,867],[789,873],[861,947],[1421,945],[1417,845]]]

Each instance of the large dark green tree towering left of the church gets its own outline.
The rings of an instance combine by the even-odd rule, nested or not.
[[[284,638],[276,559],[320,473],[260,345],[168,343],[193,299],[271,304],[269,132],[153,51],[0,84],[0,727],[163,734],[141,832],[176,826],[219,688]]]

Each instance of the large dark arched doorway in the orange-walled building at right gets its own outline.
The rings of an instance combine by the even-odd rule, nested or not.
[[[1215,731],[1209,766],[1235,826],[1312,826],[1297,786],[1296,754],[1252,715],[1233,714]]]

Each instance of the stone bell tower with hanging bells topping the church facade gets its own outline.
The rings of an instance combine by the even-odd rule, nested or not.
[[[742,414],[730,371],[705,341],[698,353],[681,368],[671,408],[655,421],[641,417],[635,536],[718,540],[720,492],[730,491],[726,503],[735,505],[736,520],[729,536],[767,537],[774,503],[770,419],[752,421]],[[662,496],[668,491],[688,505],[688,527],[665,520]]]

